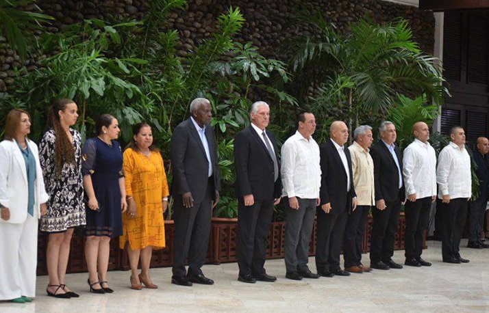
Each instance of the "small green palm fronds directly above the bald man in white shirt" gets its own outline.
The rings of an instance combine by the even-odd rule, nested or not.
[[[416,122],[431,125],[438,117],[438,111],[438,105],[427,104],[424,95],[413,100],[399,94],[397,105],[390,107],[386,116],[386,120],[390,120],[396,126],[399,148],[403,150],[413,140],[412,126]]]

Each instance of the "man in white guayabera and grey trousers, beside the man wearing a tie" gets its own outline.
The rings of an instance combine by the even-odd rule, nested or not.
[[[319,278],[308,267],[312,225],[319,205],[321,166],[319,146],[312,138],[316,119],[312,113],[299,113],[297,131],[281,149],[282,196],[286,202],[285,262],[290,280]]]

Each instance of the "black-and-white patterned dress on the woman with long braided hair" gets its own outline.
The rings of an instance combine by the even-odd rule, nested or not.
[[[56,135],[47,131],[39,144],[39,161],[46,191],[50,198],[47,215],[40,219],[42,232],[64,232],[68,228],[85,225],[85,204],[83,202],[82,177],[82,137],[70,128],[75,146],[75,163],[65,163],[61,173],[56,173],[54,165]]]

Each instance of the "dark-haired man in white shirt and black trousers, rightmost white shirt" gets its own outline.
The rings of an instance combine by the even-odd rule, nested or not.
[[[442,199],[442,256],[443,262],[466,263],[459,245],[472,194],[471,157],[465,148],[464,128],[453,127],[450,138],[450,144],[438,156],[436,169],[438,198]]]

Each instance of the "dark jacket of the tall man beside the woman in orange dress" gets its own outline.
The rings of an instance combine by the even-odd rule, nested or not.
[[[214,191],[221,187],[219,167],[217,161],[217,146],[214,131],[210,125],[205,125],[212,161],[212,177],[214,178]],[[199,133],[190,118],[178,124],[171,137],[171,165],[173,167],[173,181],[171,195],[181,196],[190,191],[194,201],[199,203],[205,196],[208,185],[209,161],[205,155]],[[215,192],[213,193],[214,197]]]

